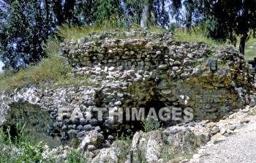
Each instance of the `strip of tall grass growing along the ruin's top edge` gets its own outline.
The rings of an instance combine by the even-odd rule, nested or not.
[[[188,41],[188,42],[206,42],[208,45],[222,45],[219,42],[215,42],[213,39],[209,39],[203,35],[202,30],[198,30],[197,27],[191,29],[191,34],[187,34],[185,28],[175,29],[173,31],[175,41]],[[197,30],[197,31],[195,31]],[[150,31],[150,32],[171,32],[170,30],[164,29],[159,26],[148,26],[148,29],[141,29],[140,26],[134,25],[129,27],[116,27],[110,25],[103,26],[72,26],[64,24],[59,26],[59,30],[56,34],[61,37],[64,41],[69,39],[80,39],[82,37],[87,37],[91,34],[102,33],[104,31],[119,31],[120,35],[118,38],[127,39],[129,37],[122,36],[124,31]],[[131,36],[134,38],[135,36]],[[140,36],[138,36],[140,38]]]

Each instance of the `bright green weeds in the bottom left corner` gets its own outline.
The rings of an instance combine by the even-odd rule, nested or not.
[[[55,157],[59,156],[64,151],[48,153],[43,157],[42,153],[45,152],[45,143],[36,141],[34,137],[26,134],[25,124],[18,123],[16,129],[18,137],[11,137],[10,128],[7,128],[7,133],[2,131],[0,126],[0,162],[3,163],[86,163],[87,158],[83,152],[71,149],[67,152],[66,159],[56,160]]]

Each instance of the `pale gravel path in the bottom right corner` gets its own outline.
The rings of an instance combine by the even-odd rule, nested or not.
[[[256,123],[237,129],[230,137],[209,142],[190,163],[256,162]]]

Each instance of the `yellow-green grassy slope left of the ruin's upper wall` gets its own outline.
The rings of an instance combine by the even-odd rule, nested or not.
[[[45,44],[45,51],[48,58],[42,58],[36,66],[21,69],[17,73],[7,70],[1,72],[0,91],[23,87],[27,83],[40,83],[42,88],[99,86],[99,83],[92,83],[88,75],[72,75],[72,67],[64,63],[64,58],[59,57],[59,41],[56,38]]]

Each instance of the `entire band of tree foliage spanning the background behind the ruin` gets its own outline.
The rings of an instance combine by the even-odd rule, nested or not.
[[[185,15],[181,12],[182,3],[186,8]],[[207,41],[203,38],[206,34],[218,42],[230,39],[234,44],[235,35],[240,35],[244,36],[241,37],[241,45],[244,45],[246,33],[256,29],[256,1],[4,0],[0,4],[1,61],[15,72],[36,64],[49,53],[43,50],[43,42],[53,37],[57,26],[60,26],[57,33],[65,39],[78,39],[80,34],[85,36],[93,31],[138,28],[145,4],[149,6],[148,25],[167,27],[170,16],[189,28],[192,20],[195,25],[200,24],[205,32],[202,36],[187,37],[192,40]]]

